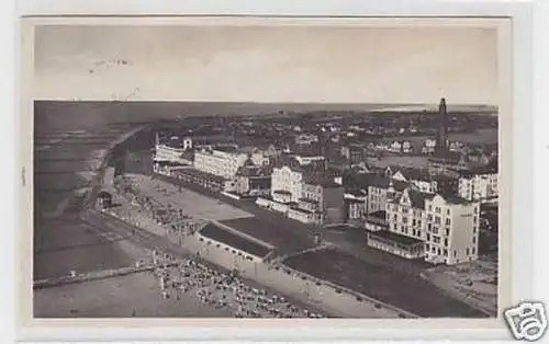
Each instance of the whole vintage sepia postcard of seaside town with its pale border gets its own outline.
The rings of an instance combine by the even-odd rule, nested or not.
[[[23,323],[504,328],[509,27],[23,20]]]

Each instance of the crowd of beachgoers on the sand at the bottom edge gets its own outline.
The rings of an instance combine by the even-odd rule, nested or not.
[[[282,296],[249,286],[237,272],[223,273],[191,259],[154,254],[161,266],[155,274],[164,299],[180,299],[193,293],[204,305],[231,309],[235,318],[325,318]]]

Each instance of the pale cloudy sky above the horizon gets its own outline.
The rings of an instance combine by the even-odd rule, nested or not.
[[[497,39],[495,28],[451,26],[38,26],[33,92],[497,105]]]

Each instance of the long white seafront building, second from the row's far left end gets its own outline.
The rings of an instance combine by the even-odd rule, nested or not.
[[[233,179],[248,158],[248,154],[232,147],[204,148],[194,152],[194,169],[224,179]]]

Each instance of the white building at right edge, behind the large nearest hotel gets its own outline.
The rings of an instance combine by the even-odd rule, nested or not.
[[[458,194],[467,200],[488,202],[497,198],[497,172],[468,173],[459,179]]]

